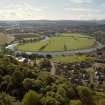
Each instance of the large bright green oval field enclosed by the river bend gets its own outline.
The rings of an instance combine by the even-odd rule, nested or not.
[[[95,45],[95,39],[86,35],[64,33],[56,37],[50,37],[48,40],[42,40],[37,43],[27,43],[18,45],[20,51],[70,51],[77,49],[90,48]]]

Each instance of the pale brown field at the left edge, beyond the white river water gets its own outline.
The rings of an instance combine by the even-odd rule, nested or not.
[[[14,37],[4,33],[0,33],[0,45],[10,43],[14,40]]]

